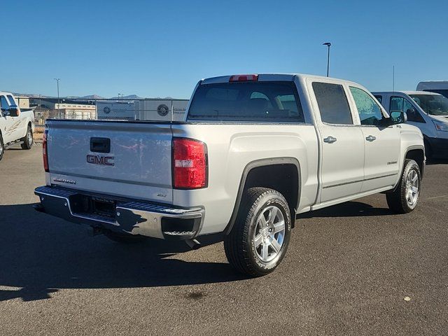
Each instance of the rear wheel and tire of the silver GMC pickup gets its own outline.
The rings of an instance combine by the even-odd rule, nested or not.
[[[268,212],[267,218],[265,216],[266,212]],[[272,228],[275,228],[275,224],[277,224],[277,228],[281,228],[280,215],[283,218],[284,230],[283,232],[276,232],[276,229]],[[260,230],[262,227],[262,224],[260,224],[261,216],[265,218],[265,227]],[[272,216],[275,217],[270,223],[269,220]],[[270,228],[269,225],[271,225]],[[249,276],[269,274],[280,265],[281,260],[286,255],[290,231],[291,216],[285,197],[276,190],[250,188],[243,195],[232,231],[224,238],[225,255],[230,265],[243,274]],[[257,232],[259,232],[258,235]],[[260,239],[262,242],[258,243],[258,247],[256,247],[255,238],[260,237],[260,235],[262,236],[262,239]],[[275,246],[274,240],[276,240]],[[281,245],[279,245],[279,241],[281,241]],[[269,248],[271,249],[270,257]],[[260,253],[267,256],[265,261],[262,260]],[[269,260],[269,258],[272,258],[272,260]]]

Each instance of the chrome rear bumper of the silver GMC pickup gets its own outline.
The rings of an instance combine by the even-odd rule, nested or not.
[[[180,209],[150,202],[114,200],[107,195],[92,196],[65,188],[42,186],[36,188],[34,193],[41,201],[34,207],[36,211],[72,223],[131,235],[193,239],[199,234],[204,218],[204,209],[200,208]],[[92,208],[97,209],[95,202],[103,204],[98,207],[102,211],[92,211]],[[107,204],[106,207],[104,204]]]

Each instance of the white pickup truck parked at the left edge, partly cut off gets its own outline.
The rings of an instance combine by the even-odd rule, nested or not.
[[[5,149],[22,142],[23,149],[33,145],[34,112],[20,109],[10,92],[0,92],[0,160]]]

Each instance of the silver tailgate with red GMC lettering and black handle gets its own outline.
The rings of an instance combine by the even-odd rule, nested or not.
[[[48,120],[52,185],[172,203],[170,123]]]

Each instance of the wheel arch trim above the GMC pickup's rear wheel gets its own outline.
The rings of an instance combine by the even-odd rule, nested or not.
[[[237,198],[235,200],[235,205],[233,207],[232,216],[230,216],[230,221],[224,230],[225,235],[228,235],[230,233],[230,231],[232,231],[233,225],[235,225],[235,220],[237,219],[239,206],[241,204],[241,199],[243,197],[244,186],[246,186],[247,176],[251,172],[251,170],[254,168],[258,168],[258,167],[266,167],[266,166],[272,166],[272,165],[288,165],[288,164],[295,165],[295,167],[297,168],[299,188],[297,190],[297,206],[295,209],[296,210],[298,209],[299,204],[300,204],[300,193],[301,193],[300,186],[302,186],[302,174],[301,174],[302,170],[300,169],[300,162],[296,158],[290,158],[290,157],[266,158],[266,159],[251,161],[246,165],[246,167],[244,167],[243,173],[241,174]],[[291,218],[291,220],[295,221],[295,218]]]

